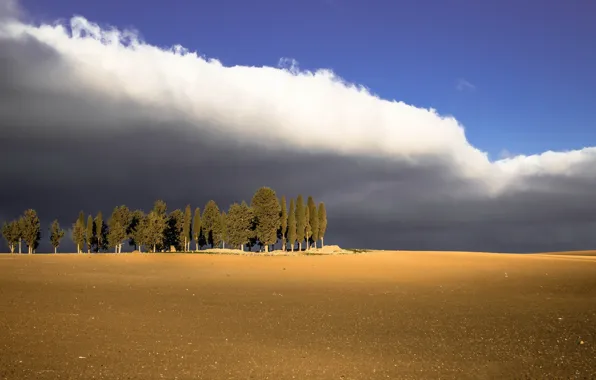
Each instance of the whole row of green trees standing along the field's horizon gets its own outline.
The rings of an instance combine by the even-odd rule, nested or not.
[[[148,213],[143,210],[130,210],[125,205],[117,206],[107,221],[98,212],[95,217],[81,211],[72,224],[71,239],[77,247],[77,253],[83,251],[122,252],[127,242],[135,250],[144,249],[152,252],[168,251],[174,247],[176,251],[199,251],[203,247],[221,247],[252,250],[263,247],[266,252],[272,245],[281,241],[283,250],[294,251],[317,247],[321,241],[323,247],[327,231],[327,211],[324,203],[315,203],[309,196],[306,203],[302,195],[290,199],[289,209],[285,196],[277,198],[275,191],[262,187],[254,194],[250,206],[242,201],[233,203],[227,212],[221,211],[217,203],[208,201],[203,211],[190,205],[184,211],[180,209],[168,213],[167,205],[157,200]],[[8,243],[10,252],[17,246],[21,253],[24,241],[28,253],[35,253],[41,239],[40,220],[33,209],[11,222],[4,223],[2,234]],[[49,238],[54,253],[65,236],[65,231],[58,220],[50,224]]]

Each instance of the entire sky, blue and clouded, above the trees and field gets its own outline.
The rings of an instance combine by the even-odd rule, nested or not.
[[[0,0],[0,221],[268,185],[324,201],[342,246],[593,248],[594,14]]]

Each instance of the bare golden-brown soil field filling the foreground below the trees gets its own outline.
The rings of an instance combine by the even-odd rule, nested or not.
[[[593,379],[569,256],[0,255],[0,378]]]

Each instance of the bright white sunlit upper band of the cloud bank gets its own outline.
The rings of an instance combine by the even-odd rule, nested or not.
[[[1,22],[0,38],[25,37],[52,47],[67,63],[71,77],[65,88],[76,85],[114,102],[132,100],[156,115],[180,115],[196,128],[215,125],[215,132],[238,141],[412,162],[436,157],[492,196],[528,176],[596,174],[594,148],[491,162],[467,141],[455,118],[381,99],[329,69],[300,70],[292,59],[280,60],[279,67],[226,67],[181,46],[161,49],[134,32],[101,28],[80,16],[69,25]],[[474,88],[463,79],[460,87]]]

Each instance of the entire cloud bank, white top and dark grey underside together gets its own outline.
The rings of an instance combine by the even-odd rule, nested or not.
[[[226,67],[81,17],[5,19],[0,99],[0,219],[227,206],[267,185],[325,201],[326,240],[343,246],[596,245],[593,148],[489,161],[454,118],[330,70]]]

